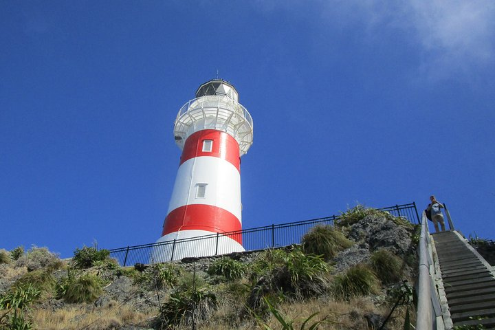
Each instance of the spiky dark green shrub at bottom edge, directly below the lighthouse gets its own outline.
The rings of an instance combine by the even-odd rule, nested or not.
[[[175,292],[160,309],[161,329],[170,329],[179,324],[190,326],[207,320],[217,309],[217,296],[206,289]]]

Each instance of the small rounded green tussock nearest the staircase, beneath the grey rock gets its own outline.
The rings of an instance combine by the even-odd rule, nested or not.
[[[371,268],[384,284],[396,283],[401,280],[402,262],[398,256],[384,249],[371,254]]]

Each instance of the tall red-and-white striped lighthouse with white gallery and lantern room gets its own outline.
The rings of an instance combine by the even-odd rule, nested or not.
[[[253,122],[234,86],[221,79],[199,86],[177,113],[174,139],[182,154],[151,262],[243,251],[240,165]]]

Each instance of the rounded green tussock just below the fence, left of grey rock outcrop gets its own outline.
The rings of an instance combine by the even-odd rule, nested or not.
[[[327,261],[352,245],[353,242],[331,225],[316,225],[303,236],[304,252],[321,255]]]

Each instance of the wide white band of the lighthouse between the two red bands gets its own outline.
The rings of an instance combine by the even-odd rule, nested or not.
[[[204,197],[197,197],[198,185],[206,184]],[[241,223],[241,175],[239,170],[218,157],[194,157],[181,164],[168,213],[181,206],[205,204],[223,208]]]

